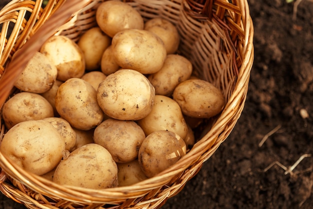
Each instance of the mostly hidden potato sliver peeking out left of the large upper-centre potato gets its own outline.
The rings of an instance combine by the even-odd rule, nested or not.
[[[120,67],[117,65],[114,57],[112,56],[112,47],[109,46],[103,52],[101,57],[101,71],[108,76],[109,74],[115,73],[119,69]]]

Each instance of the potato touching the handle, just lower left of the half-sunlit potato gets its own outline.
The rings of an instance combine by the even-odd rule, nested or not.
[[[22,91],[40,94],[52,87],[56,76],[56,67],[43,54],[36,52],[17,76],[14,86]]]

